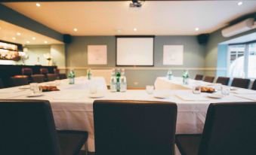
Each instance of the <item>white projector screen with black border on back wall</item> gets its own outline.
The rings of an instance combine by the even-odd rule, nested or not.
[[[117,37],[116,65],[154,65],[153,37]]]

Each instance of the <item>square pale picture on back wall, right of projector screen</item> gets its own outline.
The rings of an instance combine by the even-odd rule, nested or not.
[[[183,65],[184,45],[164,45],[163,65]]]

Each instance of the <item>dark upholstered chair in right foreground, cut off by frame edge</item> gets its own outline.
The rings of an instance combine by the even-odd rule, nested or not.
[[[177,135],[182,155],[256,153],[256,102],[214,103],[208,108],[202,135]]]

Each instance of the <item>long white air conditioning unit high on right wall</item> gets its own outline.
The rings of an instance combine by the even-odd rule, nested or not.
[[[247,32],[248,30],[254,29],[254,18],[248,18],[240,23],[236,23],[233,26],[229,26],[221,31],[224,37],[232,37],[233,35],[238,35],[242,32]]]

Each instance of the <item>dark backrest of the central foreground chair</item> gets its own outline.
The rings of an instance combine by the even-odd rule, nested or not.
[[[96,155],[173,155],[177,105],[94,101]]]

